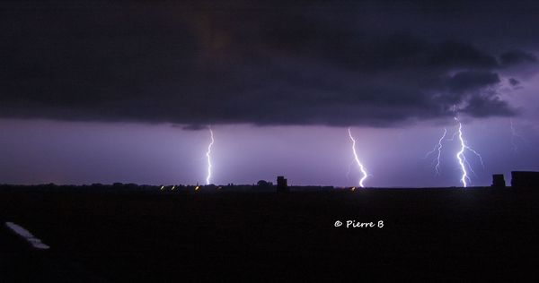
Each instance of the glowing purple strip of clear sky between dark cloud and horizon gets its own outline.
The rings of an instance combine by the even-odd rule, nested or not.
[[[513,117],[512,146],[509,118],[466,119],[466,142],[484,159],[482,168],[468,155],[476,173],[471,185],[490,185],[491,174],[511,170],[539,170],[539,111],[535,90],[539,76],[526,87],[504,95],[522,116]],[[367,167],[367,186],[459,186],[461,171],[455,159],[458,142],[444,142],[440,175],[432,160],[423,159],[447,124],[418,123],[391,128],[352,127],[359,159]],[[275,182],[287,176],[290,184],[352,186],[358,168],[352,164],[346,127],[213,126],[216,142],[212,160],[215,184]],[[52,120],[0,120],[0,182],[8,184],[204,184],[208,130],[182,130],[172,124],[59,122]]]

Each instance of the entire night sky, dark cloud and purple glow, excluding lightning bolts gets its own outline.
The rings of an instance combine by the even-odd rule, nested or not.
[[[539,170],[536,1],[0,4],[0,184],[460,186]],[[455,120],[458,118],[458,121]],[[435,149],[442,141],[439,174]]]

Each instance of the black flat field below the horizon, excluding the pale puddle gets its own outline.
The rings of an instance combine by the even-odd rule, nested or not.
[[[2,282],[537,279],[539,190],[17,192],[0,192]]]

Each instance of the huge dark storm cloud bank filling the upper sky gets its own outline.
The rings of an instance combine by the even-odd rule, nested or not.
[[[453,116],[455,105],[476,117],[516,113],[497,92],[499,72],[537,63],[519,49],[528,47],[526,34],[508,34],[522,45],[492,50],[479,36],[490,10],[477,12],[477,28],[462,26],[464,36],[455,37],[454,25],[425,15],[447,11],[448,19],[463,13],[465,20],[469,7],[399,5],[3,4],[0,116],[195,130],[388,126]]]

